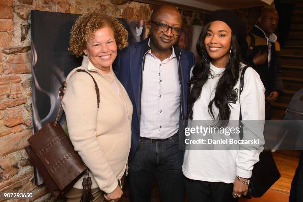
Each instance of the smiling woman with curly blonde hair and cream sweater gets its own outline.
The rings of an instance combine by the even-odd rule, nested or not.
[[[83,61],[67,76],[62,105],[70,140],[89,168],[89,201],[115,202],[122,196],[133,107],[112,63],[117,50],[127,46],[127,39],[123,25],[100,10],[80,16],[71,30],[69,50],[83,56]],[[100,104],[92,77],[99,88]],[[65,194],[68,202],[80,202],[83,178]]]

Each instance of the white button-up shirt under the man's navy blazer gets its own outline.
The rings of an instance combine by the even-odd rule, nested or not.
[[[170,57],[163,61],[149,50],[142,78],[140,136],[165,139],[177,133],[180,99],[178,60],[174,48]]]

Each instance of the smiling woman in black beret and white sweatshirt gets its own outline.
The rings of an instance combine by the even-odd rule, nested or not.
[[[230,120],[239,120],[241,110],[243,120],[264,120],[265,89],[253,68],[247,68],[239,96],[240,74],[246,66],[241,62],[240,47],[246,44],[245,38],[245,23],[231,11],[217,10],[206,19],[196,45],[201,60],[191,73],[189,127],[195,127],[194,120],[202,124],[201,120],[213,120],[215,127],[226,127],[226,120],[228,124]],[[246,126],[243,139],[257,136],[264,140],[263,130],[258,130]],[[190,145],[183,161],[187,201],[235,202],[246,195],[248,179],[253,165],[259,161],[263,143],[260,141],[250,150],[198,150]]]

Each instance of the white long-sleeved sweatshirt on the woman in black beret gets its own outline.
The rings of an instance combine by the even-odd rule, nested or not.
[[[241,64],[241,67],[244,67]],[[210,73],[207,82],[202,88],[200,97],[193,106],[193,120],[212,120],[208,112],[208,104],[213,99],[215,88],[222,75],[224,68],[217,68],[210,64]],[[239,80],[235,88],[239,89]],[[192,75],[191,75],[192,76]],[[265,88],[258,73],[251,67],[247,68],[244,75],[244,88],[241,93],[242,120],[264,120],[265,118]],[[239,92],[237,101],[230,103],[230,120],[239,120]],[[215,116],[218,114],[218,108],[213,104]],[[191,121],[189,121],[189,127]],[[249,133],[254,133],[254,128],[244,127],[243,135],[245,139]],[[263,128],[258,129],[263,130]],[[185,150],[183,161],[183,174],[190,179],[233,183],[236,175],[243,178],[250,178],[253,165],[259,161],[259,154],[263,150],[263,135],[257,135],[260,139],[260,145],[252,150]],[[251,136],[252,137],[252,136]],[[240,147],[241,148],[241,147]]]

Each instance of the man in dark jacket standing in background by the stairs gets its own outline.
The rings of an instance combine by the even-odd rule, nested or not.
[[[280,45],[274,31],[279,20],[274,8],[263,8],[257,24],[247,36],[246,63],[260,75],[265,86],[266,119],[271,118],[270,103],[283,93]]]

